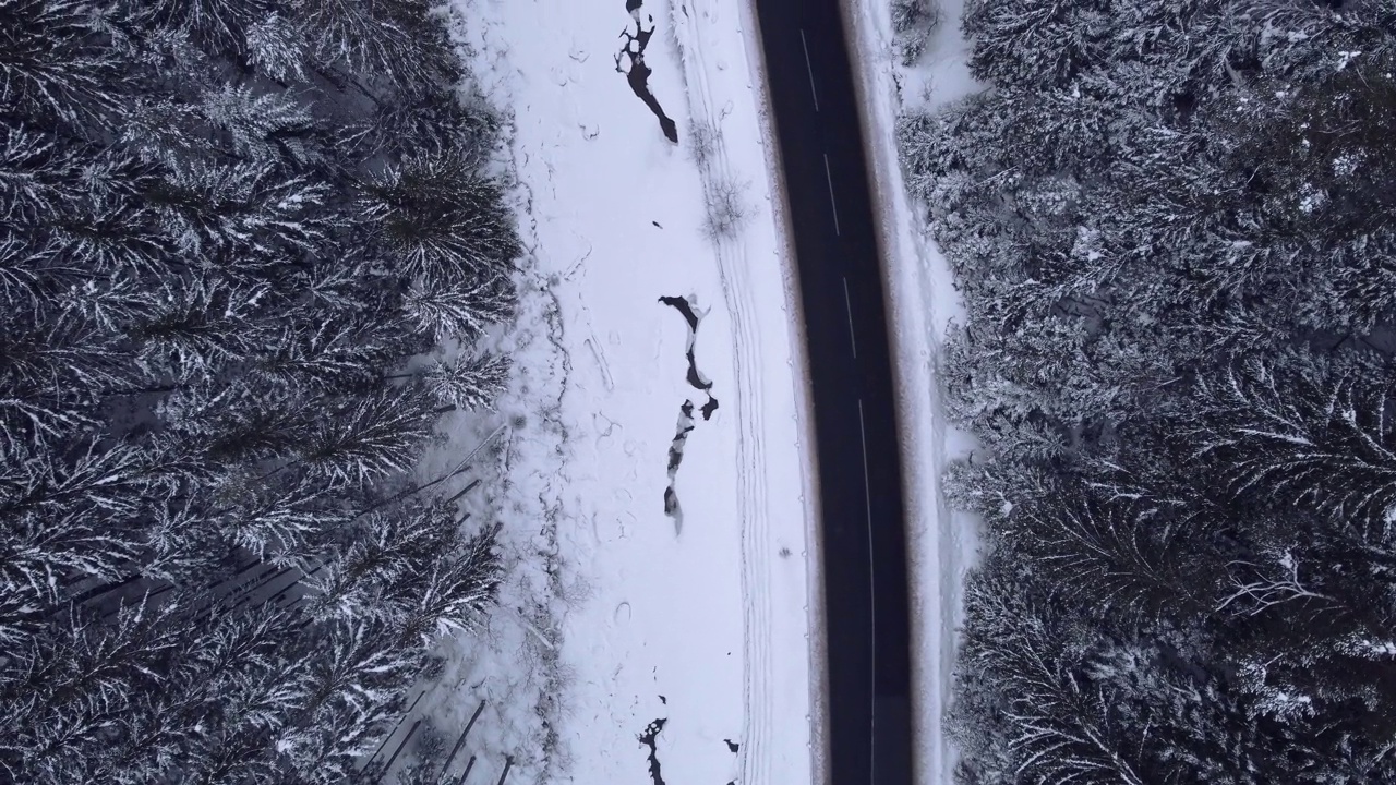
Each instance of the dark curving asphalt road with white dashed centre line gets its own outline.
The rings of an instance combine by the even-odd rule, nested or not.
[[[757,0],[814,390],[833,785],[910,785],[910,619],[882,270],[839,0]]]

